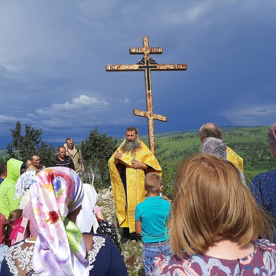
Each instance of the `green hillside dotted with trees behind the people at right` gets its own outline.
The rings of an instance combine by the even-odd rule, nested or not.
[[[269,127],[222,127],[224,142],[244,158],[244,172],[250,179],[260,172],[276,169],[276,160],[271,156],[267,145]],[[148,145],[147,135],[140,138]],[[123,139],[118,139],[118,143]],[[198,130],[156,134],[157,158],[164,153],[172,165],[199,152]]]

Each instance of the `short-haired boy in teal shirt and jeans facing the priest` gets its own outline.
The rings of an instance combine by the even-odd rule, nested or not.
[[[142,238],[146,276],[150,273],[150,266],[156,255],[170,254],[167,227],[170,202],[160,196],[162,187],[162,177],[157,173],[148,173],[145,176],[147,198],[135,208],[135,231]]]

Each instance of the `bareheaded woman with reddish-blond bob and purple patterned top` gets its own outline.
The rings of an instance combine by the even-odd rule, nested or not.
[[[198,155],[179,167],[168,222],[176,254],[157,255],[150,276],[276,275],[271,218],[230,162]]]

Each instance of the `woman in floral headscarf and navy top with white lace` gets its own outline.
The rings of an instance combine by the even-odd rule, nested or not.
[[[76,226],[83,196],[83,184],[73,170],[40,171],[30,187],[38,235],[9,249],[0,275],[128,275],[109,237],[81,234]]]

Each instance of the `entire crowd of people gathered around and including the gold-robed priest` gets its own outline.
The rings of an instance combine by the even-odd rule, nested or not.
[[[179,164],[172,202],[162,168],[128,127],[109,160],[118,225],[83,183],[81,150],[66,139],[52,167],[31,154],[1,166],[0,275],[128,275],[120,244],[141,239],[145,275],[275,275],[276,170],[246,181],[243,159],[213,123],[201,153]],[[276,123],[268,133],[276,158]]]

